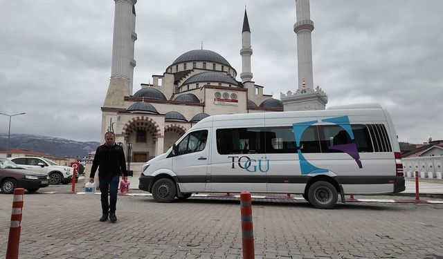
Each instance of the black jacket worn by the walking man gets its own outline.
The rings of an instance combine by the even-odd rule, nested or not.
[[[99,178],[109,178],[122,173],[126,175],[126,160],[123,148],[118,144],[111,147],[106,146],[106,144],[98,146],[92,162],[90,178],[96,175],[97,167]]]

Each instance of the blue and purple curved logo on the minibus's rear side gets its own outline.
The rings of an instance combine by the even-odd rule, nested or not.
[[[332,145],[332,146],[329,146],[329,148],[347,153],[352,158],[354,158],[354,160],[355,160],[356,164],[359,166],[359,168],[363,168],[361,161],[360,161],[359,151],[358,151],[356,143],[355,143],[354,133],[352,133],[352,128],[349,123],[349,117],[347,117],[347,116],[332,117],[329,119],[322,119],[321,121],[322,122],[330,122],[330,123],[340,126],[341,128],[343,128],[343,130],[345,130],[345,132],[347,133],[347,135],[349,135],[350,139],[353,142],[353,143],[348,143],[348,144]],[[300,140],[301,140],[302,133],[305,132],[306,128],[308,128],[309,126],[314,125],[316,123],[318,123],[318,120],[313,120],[313,121],[308,121],[308,122],[298,122],[298,123],[292,124],[293,134],[294,134],[294,137],[296,138],[296,145],[298,146],[297,153],[298,153],[298,160],[300,161],[300,169],[301,169],[302,175],[307,175],[309,173],[327,173],[328,172],[327,169],[320,169],[317,166],[314,166],[313,164],[308,162],[306,160],[305,156],[302,154],[302,151],[300,149]]]

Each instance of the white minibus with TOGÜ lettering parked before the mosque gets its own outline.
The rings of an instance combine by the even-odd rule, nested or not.
[[[319,209],[341,195],[404,191],[397,135],[379,104],[214,115],[143,166],[156,202],[192,193],[294,193]]]

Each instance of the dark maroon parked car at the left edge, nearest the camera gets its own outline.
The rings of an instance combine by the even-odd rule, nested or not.
[[[49,185],[47,173],[37,173],[23,169],[6,158],[0,158],[0,189],[2,193],[13,193],[16,188],[24,188],[34,193]]]

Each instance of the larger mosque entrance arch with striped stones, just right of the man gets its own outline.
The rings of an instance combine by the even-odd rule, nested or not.
[[[129,120],[123,127],[123,135],[126,144],[132,146],[129,154],[131,162],[147,162],[155,156],[159,125],[153,119],[142,116]]]

